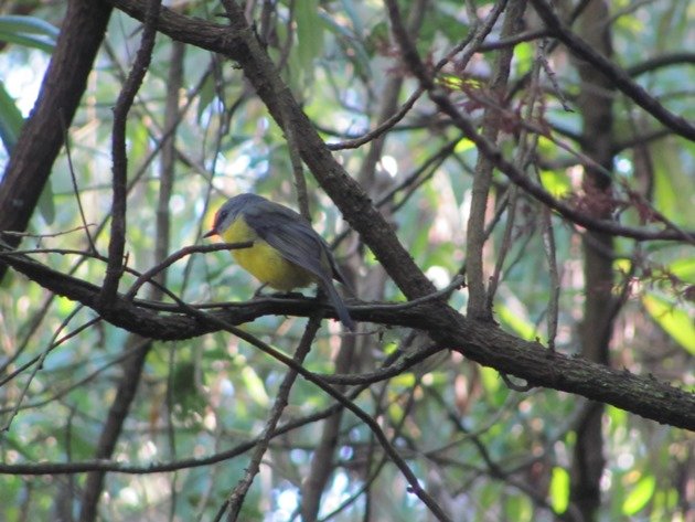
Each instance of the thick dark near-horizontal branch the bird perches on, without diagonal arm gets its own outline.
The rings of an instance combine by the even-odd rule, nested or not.
[[[213,321],[177,313],[170,306],[168,313],[157,313],[141,301],[129,301],[117,296],[111,307],[100,308],[99,287],[65,276],[26,256],[7,254],[2,259],[18,271],[61,296],[92,308],[111,324],[152,339],[171,341],[190,339],[220,330]],[[328,305],[316,300],[258,299],[239,303],[224,311],[210,313],[213,318],[239,324],[265,315],[308,317]],[[398,306],[351,307],[357,321],[417,328],[428,331],[442,347],[457,350],[468,359],[502,373],[543,386],[575,393],[594,401],[611,404],[662,424],[695,430],[695,394],[678,390],[653,379],[628,371],[618,371],[581,358],[552,352],[537,342],[528,342],[490,324],[468,320],[440,301],[404,308]]]

